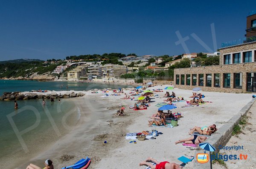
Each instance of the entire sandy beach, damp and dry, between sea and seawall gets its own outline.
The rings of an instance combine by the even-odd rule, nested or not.
[[[166,86],[154,86],[148,89],[164,89]],[[217,128],[228,121],[233,115],[251,100],[251,94],[202,92],[206,97],[204,101],[212,103],[200,106],[185,107],[186,102],[175,103],[177,109],[173,112],[181,112],[183,117],[178,121],[178,126],[174,128],[148,127],[149,116],[157,112],[157,103],[165,99],[164,92],[155,92],[147,110],[134,111],[129,109],[134,105],[134,100],[122,100],[121,96],[104,97],[104,93],[99,91],[93,94],[91,91],[84,92],[86,95],[79,98],[70,98],[69,101],[76,102],[81,110],[81,117],[75,127],[67,135],[50,144],[42,147],[40,153],[34,154],[33,158],[27,161],[18,161],[21,165],[17,168],[26,168],[29,163],[42,165],[43,161],[50,158],[55,168],[59,169],[75,163],[88,156],[92,159],[89,168],[113,168],[113,169],[144,169],[145,166],[138,164],[147,157],[153,157],[159,161],[169,161],[180,164],[177,160],[180,156],[193,156],[194,151],[181,144],[175,145],[175,141],[187,138],[189,129],[193,126],[209,126],[215,123]],[[191,90],[173,89],[176,96],[182,96],[185,100],[190,99]],[[64,91],[63,91],[64,92]],[[66,92],[66,91],[65,91]],[[130,91],[124,91],[129,93]],[[171,92],[171,91],[170,91]],[[109,92],[110,94],[112,91]],[[138,97],[138,96],[137,96]],[[135,98],[137,98],[135,96]],[[239,98],[239,99],[237,99]],[[116,110],[120,105],[125,106],[125,116],[116,116]],[[163,135],[159,135],[155,140],[137,140],[137,144],[129,143],[125,140],[128,132],[142,132],[157,129]],[[218,132],[218,131],[217,131]],[[210,137],[214,137],[212,134]],[[108,143],[103,144],[104,140]],[[33,153],[32,153],[33,154]],[[67,161],[61,160],[61,156],[70,155],[73,158]],[[187,169],[192,169],[192,163],[186,165]]]

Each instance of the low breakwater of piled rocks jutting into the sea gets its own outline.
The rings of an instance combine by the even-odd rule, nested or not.
[[[59,98],[72,98],[72,97],[81,97],[85,94],[83,92],[66,92],[65,94],[57,94],[57,92],[47,92],[47,93],[33,93],[33,92],[4,92],[0,96],[0,100],[30,100],[30,99],[59,99]]]

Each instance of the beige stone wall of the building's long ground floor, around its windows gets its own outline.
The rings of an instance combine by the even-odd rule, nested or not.
[[[201,87],[204,91],[209,92],[231,92],[231,93],[241,93],[246,92],[247,83],[247,72],[256,72],[256,62],[254,63],[238,63],[230,65],[217,65],[217,66],[202,66],[202,67],[192,67],[183,69],[174,69],[174,85],[179,89],[193,89],[196,86],[192,86],[192,74],[197,74],[197,86],[199,74],[204,74],[204,86]],[[214,87],[214,74],[220,74],[220,87]],[[223,87],[223,74],[230,73],[230,88]],[[234,88],[234,73],[242,73],[242,89]],[[176,85],[176,74],[185,74],[185,85]],[[190,85],[186,85],[186,74],[190,74]],[[206,86],[207,77],[206,74],[212,74],[212,86]],[[181,82],[181,76],[180,76]]]

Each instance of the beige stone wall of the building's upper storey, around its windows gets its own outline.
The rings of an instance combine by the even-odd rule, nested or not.
[[[233,46],[233,47],[221,48],[220,49],[220,65],[223,65],[223,55],[224,54],[247,51],[247,50],[252,50],[252,49],[256,49],[256,42],[244,43],[244,44]],[[242,55],[241,55],[241,62],[242,62]]]

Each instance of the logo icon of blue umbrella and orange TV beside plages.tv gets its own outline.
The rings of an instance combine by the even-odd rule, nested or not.
[[[207,163],[209,161],[209,155],[206,153],[206,151],[214,152],[216,149],[209,143],[200,143],[199,146],[204,149],[204,153],[198,153],[196,155],[196,159],[198,163]]]

